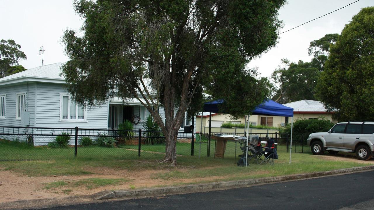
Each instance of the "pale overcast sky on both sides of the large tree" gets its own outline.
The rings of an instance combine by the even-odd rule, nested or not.
[[[284,26],[281,32],[304,22],[346,6],[355,0],[288,0],[279,10]],[[0,39],[13,39],[21,45],[26,61],[25,68],[42,65],[39,47],[44,46],[44,65],[66,62],[61,36],[67,28],[82,26],[82,19],[75,13],[71,0],[0,0]],[[323,18],[281,34],[276,47],[268,50],[248,64],[257,67],[262,76],[268,77],[278,67],[282,58],[297,62],[309,62],[307,48],[310,41],[325,34],[340,33],[344,25],[361,8],[374,6],[374,0],[360,0]]]

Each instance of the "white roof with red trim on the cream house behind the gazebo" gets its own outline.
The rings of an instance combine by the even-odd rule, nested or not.
[[[295,101],[288,104],[283,104],[285,106],[294,108],[294,113],[297,112],[328,112],[321,101],[313,101],[313,100],[301,100]]]

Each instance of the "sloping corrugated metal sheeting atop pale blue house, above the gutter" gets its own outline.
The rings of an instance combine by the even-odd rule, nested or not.
[[[7,77],[0,78],[0,83],[9,81],[9,80],[16,80],[25,77],[31,78],[48,78],[48,79],[55,79],[55,80],[64,80],[64,77],[60,76],[61,72],[61,65],[63,63],[55,63],[44,65],[36,68],[30,68],[28,70],[9,75]]]

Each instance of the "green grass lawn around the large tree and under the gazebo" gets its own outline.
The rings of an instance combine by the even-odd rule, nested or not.
[[[195,155],[190,156],[189,143],[178,143],[178,165],[171,167],[168,164],[159,164],[164,151],[163,145],[141,145],[142,152],[133,151],[137,145],[126,145],[124,148],[79,148],[78,155],[74,158],[74,148],[30,148],[16,143],[0,143],[0,168],[11,170],[28,176],[53,176],[53,175],[88,175],[96,173],[96,168],[104,167],[114,170],[127,170],[141,172],[155,170],[152,179],[196,179],[213,177],[214,180],[247,179],[255,177],[280,176],[297,173],[319,172],[334,169],[344,169],[355,166],[367,166],[368,163],[354,163],[349,161],[331,161],[312,155],[311,153],[292,153],[292,164],[289,164],[289,153],[286,146],[278,145],[279,160],[274,166],[257,165],[251,163],[249,167],[237,167],[235,162],[235,143],[228,142],[225,158],[214,158],[214,141],[212,141],[211,157],[206,157],[206,146],[202,144],[201,156],[198,157],[200,145],[195,144]],[[130,149],[130,150],[129,150]],[[237,154],[240,151],[237,144]],[[9,161],[18,158],[18,161]],[[157,170],[164,169],[157,173]],[[186,170],[188,169],[188,170]],[[166,170],[166,172],[165,172]],[[211,180],[210,180],[211,181]],[[193,181],[195,182],[195,181]],[[196,182],[204,180],[196,179]],[[95,185],[93,185],[95,186]]]

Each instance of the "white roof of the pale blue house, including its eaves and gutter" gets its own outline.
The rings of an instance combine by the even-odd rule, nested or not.
[[[0,85],[12,84],[23,81],[48,81],[51,83],[65,83],[63,76],[60,76],[61,65],[63,63],[55,63],[44,65],[36,68],[9,75],[0,78]]]

